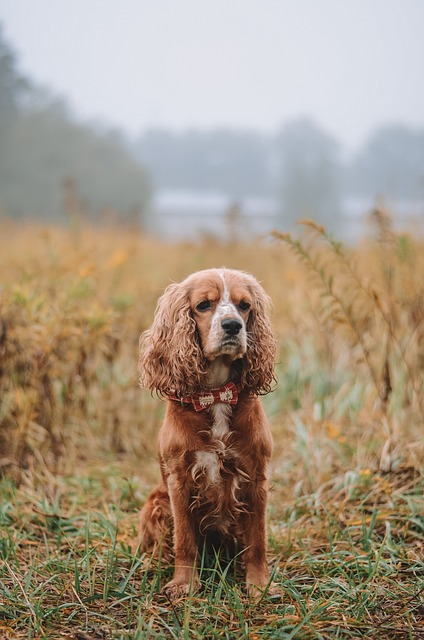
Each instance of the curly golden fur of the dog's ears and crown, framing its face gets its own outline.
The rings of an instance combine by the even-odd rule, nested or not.
[[[204,387],[208,362],[202,351],[193,317],[193,291],[202,278],[216,278],[218,269],[191,274],[180,284],[171,284],[159,298],[150,329],[140,337],[140,385],[166,396],[185,395]],[[270,299],[248,273],[225,269],[235,281],[243,282],[252,295],[247,321],[249,348],[243,356],[241,382],[258,395],[271,391],[274,382],[275,339],[268,318]]]

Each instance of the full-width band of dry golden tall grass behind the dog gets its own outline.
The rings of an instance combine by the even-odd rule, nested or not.
[[[66,473],[88,456],[153,455],[161,411],[137,388],[138,337],[171,280],[224,264],[254,273],[274,302],[277,449],[301,418],[307,438],[327,429],[360,457],[364,442],[375,454],[385,445],[386,470],[421,459],[423,245],[396,235],[384,212],[374,218],[375,240],[351,250],[315,225],[302,240],[174,245],[125,229],[3,223],[2,469]],[[327,466],[312,476],[324,479]]]

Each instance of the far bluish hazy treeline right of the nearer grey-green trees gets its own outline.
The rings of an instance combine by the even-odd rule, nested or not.
[[[233,130],[143,134],[135,153],[158,188],[207,189],[277,197],[282,216],[328,222],[343,201],[419,202],[424,206],[424,129],[388,125],[350,157],[308,119],[275,135]]]

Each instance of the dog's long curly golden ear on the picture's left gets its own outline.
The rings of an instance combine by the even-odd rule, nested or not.
[[[140,337],[140,385],[162,396],[193,393],[205,369],[188,291],[171,284],[159,298],[152,326]]]

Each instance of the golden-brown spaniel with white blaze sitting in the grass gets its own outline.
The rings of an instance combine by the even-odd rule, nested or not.
[[[172,599],[198,587],[209,536],[242,550],[250,595],[269,585],[266,506],[272,437],[259,395],[272,390],[270,299],[250,274],[206,269],[167,287],[140,337],[140,385],[167,399],[161,481],[140,515],[147,551],[173,531]]]

